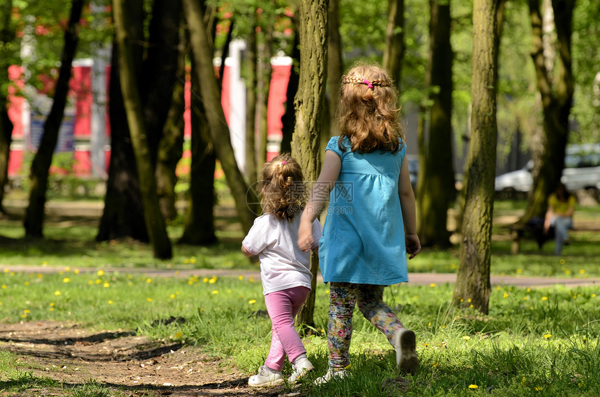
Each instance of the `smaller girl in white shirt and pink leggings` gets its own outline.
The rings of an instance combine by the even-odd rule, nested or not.
[[[310,251],[298,247],[300,215],[306,203],[306,187],[300,165],[289,154],[264,164],[260,174],[260,204],[264,215],[255,219],[243,239],[241,251],[257,255],[264,302],[272,322],[271,349],[250,386],[270,386],[283,382],[281,369],[285,356],[292,363],[288,382],[313,370],[306,349],[294,328],[297,315],[310,292],[313,274],[308,270]],[[313,221],[312,234],[317,249],[321,224]]]

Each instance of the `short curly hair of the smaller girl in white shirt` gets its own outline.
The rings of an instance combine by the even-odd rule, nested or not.
[[[283,153],[262,166],[258,195],[264,213],[291,221],[306,205],[306,185],[300,164]]]

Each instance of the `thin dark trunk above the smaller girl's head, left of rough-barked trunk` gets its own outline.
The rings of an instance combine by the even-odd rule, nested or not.
[[[294,13],[292,22],[294,22],[294,43],[292,44],[292,68],[290,68],[290,79],[287,81],[285,91],[285,113],[281,116],[281,153],[292,152],[292,135],[296,125],[296,111],[294,110],[294,98],[297,95],[300,85],[299,65],[301,61],[300,54],[300,26],[298,18]]]

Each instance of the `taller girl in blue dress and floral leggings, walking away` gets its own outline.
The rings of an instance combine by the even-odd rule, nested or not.
[[[330,283],[329,371],[319,382],[345,375],[350,366],[356,304],[396,349],[399,371],[414,373],[419,365],[414,332],[383,302],[384,286],[408,281],[407,254],[412,259],[421,251],[397,98],[377,65],[356,65],[343,77],[341,134],[327,144],[302,213],[298,244],[308,250],[311,225],[329,198],[319,242],[323,281]]]

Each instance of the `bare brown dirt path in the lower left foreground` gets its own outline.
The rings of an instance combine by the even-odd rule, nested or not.
[[[285,387],[250,388],[248,374],[226,361],[121,330],[94,333],[53,321],[0,324],[0,349],[17,355],[20,371],[61,382],[56,388],[27,389],[21,394],[0,391],[2,396],[66,396],[68,389],[92,379],[125,396],[294,394]],[[7,382],[0,384],[6,387]]]

